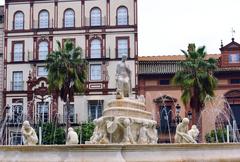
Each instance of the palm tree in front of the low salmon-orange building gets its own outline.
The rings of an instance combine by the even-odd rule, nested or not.
[[[182,70],[175,74],[172,83],[181,87],[181,100],[185,106],[190,103],[197,123],[206,96],[214,96],[217,79],[213,71],[217,68],[217,60],[205,58],[205,46],[196,49],[195,44],[189,44],[187,52],[181,51],[186,59],[180,62]]]

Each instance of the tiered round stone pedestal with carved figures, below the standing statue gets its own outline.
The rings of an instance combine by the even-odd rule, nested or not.
[[[95,121],[89,144],[156,144],[156,121],[137,99],[114,99]]]

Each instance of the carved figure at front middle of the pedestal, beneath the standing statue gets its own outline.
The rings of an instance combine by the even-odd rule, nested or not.
[[[122,143],[135,144],[136,142],[133,139],[132,130],[131,130],[131,121],[127,118],[123,120],[123,124],[121,124],[121,122],[119,122],[118,124],[120,127],[123,128]]]

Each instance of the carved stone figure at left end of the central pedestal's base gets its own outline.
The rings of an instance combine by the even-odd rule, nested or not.
[[[91,144],[109,143],[103,118],[95,119],[93,122],[95,124],[95,128],[93,135],[90,138],[90,143]]]

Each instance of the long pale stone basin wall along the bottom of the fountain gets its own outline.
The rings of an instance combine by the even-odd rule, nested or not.
[[[1,162],[239,162],[240,144],[0,146]]]

